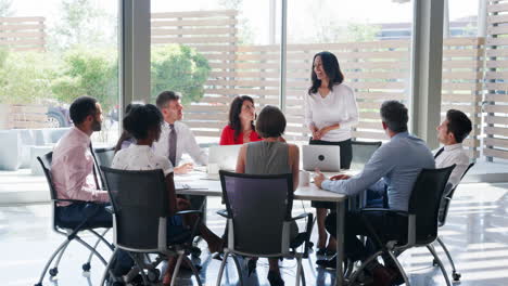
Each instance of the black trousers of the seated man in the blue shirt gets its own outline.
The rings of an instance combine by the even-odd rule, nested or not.
[[[382,242],[397,239],[405,242],[407,236],[407,218],[395,213],[386,213],[382,211],[364,212],[365,220],[370,222],[374,232],[380,236]],[[372,249],[367,249],[366,246],[356,237],[364,235],[372,238],[365,220],[358,211],[347,211],[344,218],[344,255],[346,258],[357,261],[364,260],[372,251],[377,251],[381,246],[376,243],[371,246]],[[327,231],[333,236],[336,236],[336,213],[330,213],[325,222]],[[374,239],[371,239],[374,242]]]

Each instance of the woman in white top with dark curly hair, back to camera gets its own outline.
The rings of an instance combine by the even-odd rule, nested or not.
[[[170,214],[189,209],[190,203],[183,198],[177,198],[173,179],[173,167],[169,159],[153,153],[152,144],[161,136],[163,116],[158,108],[152,104],[136,104],[125,116],[125,130],[135,139],[129,147],[118,151],[113,158],[112,168],[120,170],[156,170],[161,169],[165,176],[166,190],[169,198]],[[142,190],[140,190],[142,192]],[[172,216],[167,220],[167,240],[187,230],[195,222],[195,216]],[[200,234],[208,244],[211,252],[220,250],[221,239],[209,231],[204,224],[199,225]],[[169,258],[168,269],[164,275],[164,285],[172,281],[172,273],[176,259]]]

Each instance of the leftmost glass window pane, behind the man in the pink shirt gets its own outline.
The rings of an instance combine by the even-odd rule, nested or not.
[[[0,172],[9,179],[0,193],[24,191],[27,202],[47,197],[46,192],[38,194],[45,179],[26,176],[42,176],[36,157],[52,151],[72,127],[68,108],[77,96],[93,96],[102,105],[104,120],[102,131],[92,136],[94,146],[116,143],[117,5],[97,0],[2,1]]]

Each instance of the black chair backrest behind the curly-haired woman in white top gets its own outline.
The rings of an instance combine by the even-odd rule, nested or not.
[[[117,170],[104,166],[101,170],[114,210],[115,244],[134,251],[160,249],[165,245],[165,235],[160,237],[160,226],[166,229],[161,221],[165,222],[169,214],[163,171]]]

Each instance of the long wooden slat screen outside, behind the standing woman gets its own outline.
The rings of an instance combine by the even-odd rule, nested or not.
[[[152,15],[153,44],[194,47],[213,68],[204,98],[186,106],[186,122],[196,135],[218,139],[227,123],[229,103],[236,95],[253,96],[258,109],[279,103],[280,47],[238,44],[237,23],[236,11]],[[455,38],[445,40],[443,50],[442,112],[456,108],[471,116],[475,128],[466,145],[474,157],[480,145],[483,44],[479,38]],[[303,96],[307,96],[314,54],[328,50],[338,56],[345,83],[355,90],[360,121],[353,131],[354,136],[386,140],[379,107],[385,100],[406,100],[410,82],[409,48],[408,40],[288,44],[287,139],[308,140],[303,123]]]

